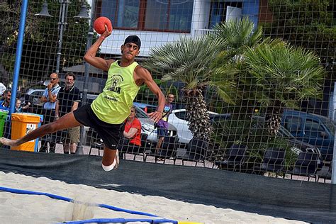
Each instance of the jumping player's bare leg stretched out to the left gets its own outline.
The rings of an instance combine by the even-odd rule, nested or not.
[[[67,113],[65,116],[62,116],[57,121],[52,122],[52,123],[47,123],[46,125],[42,125],[40,126],[40,128],[37,128],[31,131],[30,133],[28,133],[28,135],[25,135],[22,138],[19,138],[17,140],[9,140],[6,138],[0,138],[0,143],[4,145],[9,145],[9,146],[18,146],[30,140],[40,138],[46,134],[54,133],[57,130],[73,128],[78,125],[81,125],[81,124],[78,121],[76,121],[76,119],[74,118],[74,113],[70,112],[70,113]]]

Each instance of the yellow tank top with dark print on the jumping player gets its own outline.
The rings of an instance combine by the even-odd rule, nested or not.
[[[133,76],[137,66],[137,62],[128,67],[119,66],[118,61],[111,64],[103,92],[91,103],[92,110],[101,121],[120,124],[130,115],[130,107],[140,89]]]

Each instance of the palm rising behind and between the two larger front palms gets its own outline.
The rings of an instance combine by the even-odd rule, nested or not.
[[[230,20],[213,26],[213,33],[209,38],[225,42],[222,51],[212,63],[213,70],[221,74],[223,69],[225,73],[228,64],[232,64],[238,71],[237,75],[232,77],[233,79],[224,75],[222,79],[230,79],[230,82],[235,83],[236,89],[227,94],[235,105],[240,105],[232,108],[234,116],[245,120],[252,114],[255,103],[250,95],[254,86],[244,67],[244,53],[247,47],[254,47],[262,41],[262,28],[255,28],[254,23],[248,18],[242,18],[240,21]]]

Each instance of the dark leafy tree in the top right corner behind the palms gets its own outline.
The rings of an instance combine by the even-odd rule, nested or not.
[[[333,0],[269,0],[272,19],[262,24],[264,34],[281,38],[292,45],[313,50],[325,67],[323,101],[329,101],[329,91],[335,80],[336,20]],[[315,111],[314,113],[326,113]],[[325,114],[326,115],[326,114]]]

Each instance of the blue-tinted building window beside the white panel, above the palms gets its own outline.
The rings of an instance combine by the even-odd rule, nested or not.
[[[217,23],[221,23],[225,21],[226,12],[228,6],[236,7],[242,9],[242,2],[223,2],[223,1],[213,1],[211,3],[211,13],[210,13],[210,20],[209,20],[209,27],[212,28]]]

